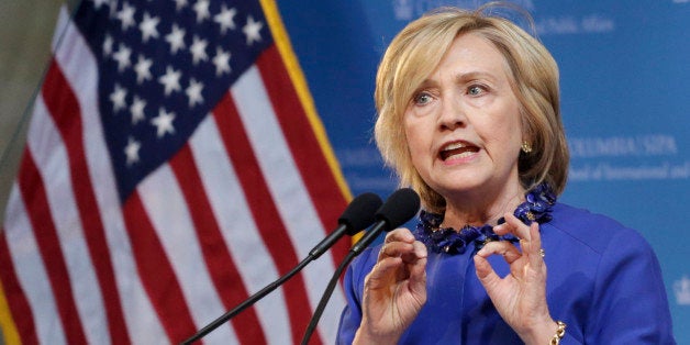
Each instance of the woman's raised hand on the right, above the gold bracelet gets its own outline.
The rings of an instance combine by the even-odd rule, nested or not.
[[[487,290],[497,311],[525,344],[548,344],[558,325],[546,303],[546,264],[542,252],[539,225],[525,225],[513,214],[497,225],[498,235],[518,236],[520,249],[507,241],[487,243],[475,255],[477,277]],[[499,277],[487,258],[502,255],[510,265],[510,275]]]

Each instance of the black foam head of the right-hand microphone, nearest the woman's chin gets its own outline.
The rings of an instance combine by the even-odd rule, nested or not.
[[[386,203],[376,211],[377,220],[386,221],[386,231],[391,231],[412,219],[420,211],[420,196],[411,188],[396,190]]]

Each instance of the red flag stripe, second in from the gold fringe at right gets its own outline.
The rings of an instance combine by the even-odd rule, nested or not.
[[[219,102],[213,114],[223,137],[225,149],[244,189],[252,215],[279,274],[282,276],[297,266],[298,257],[287,234],[286,226],[280,220],[275,201],[271,199],[264,175],[256,160],[249,140],[243,130],[244,125],[230,93]],[[286,291],[286,303],[290,315],[292,342],[298,344],[311,318],[304,279],[299,275],[293,277],[283,285],[283,290]]]

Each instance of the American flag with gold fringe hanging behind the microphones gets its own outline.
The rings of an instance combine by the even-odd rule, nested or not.
[[[349,191],[271,0],[82,1],[53,52],[0,236],[5,342],[179,343],[335,227]],[[298,343],[347,247],[204,342]]]

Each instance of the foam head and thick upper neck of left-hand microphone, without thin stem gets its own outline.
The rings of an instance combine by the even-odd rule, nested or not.
[[[353,236],[363,229],[371,225],[371,223],[376,221],[375,212],[381,207],[381,203],[383,203],[381,198],[371,192],[357,196],[357,198],[347,205],[347,209],[343,211],[341,218],[338,218],[338,227],[315,245],[314,248],[309,252],[309,255],[313,259],[316,259],[332,247],[337,240],[343,237],[344,234]]]

